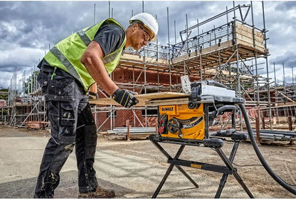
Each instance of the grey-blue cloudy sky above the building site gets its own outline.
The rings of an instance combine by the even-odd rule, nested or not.
[[[8,88],[13,71],[17,78],[23,73],[26,78],[38,65],[49,46],[64,39],[75,31],[96,21],[113,16],[122,26],[132,14],[142,12],[143,1],[0,1],[0,88]],[[110,4],[110,6],[109,6]],[[250,1],[235,1],[235,5],[250,4]],[[174,44],[174,21],[176,21],[176,41],[180,41],[179,31],[188,24],[216,16],[233,8],[233,1],[144,1],[144,11],[157,16],[159,21],[159,44],[168,44],[167,8],[169,8],[170,43]],[[110,9],[109,9],[110,8]],[[285,63],[285,76],[292,81],[292,67],[296,76],[296,1],[264,1],[265,26],[268,30],[270,56],[270,77],[273,78],[275,62],[277,78],[282,79],[282,63]],[[263,29],[262,1],[253,1],[255,26]],[[238,15],[238,13],[236,13]],[[229,14],[228,20],[232,19]],[[226,24],[222,21],[203,27],[208,31],[213,25]],[[252,24],[251,14],[246,20]],[[217,24],[215,24],[217,23]],[[220,24],[219,24],[220,23]],[[37,68],[36,68],[37,70]],[[261,72],[264,73],[264,72]],[[295,78],[296,81],[296,78]]]

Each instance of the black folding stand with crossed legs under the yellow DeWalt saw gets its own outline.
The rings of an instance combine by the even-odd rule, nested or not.
[[[241,134],[241,135],[244,135],[244,134]],[[234,176],[234,178],[236,178],[236,180],[238,180],[238,183],[240,183],[240,185],[245,190],[245,192],[248,194],[248,196],[250,198],[254,198],[254,196],[252,195],[252,193],[250,193],[250,190],[248,190],[245,183],[243,183],[243,180],[240,178],[240,175],[238,175],[236,168],[234,168],[232,165],[233,159],[236,155],[236,151],[238,150],[238,145],[240,143],[240,140],[245,139],[245,136],[238,135],[235,137],[240,138],[240,139],[234,140],[233,148],[232,148],[231,155],[229,156],[229,158],[226,157],[225,153],[223,153],[223,150],[221,149],[221,147],[223,146],[223,141],[221,139],[211,138],[211,139],[209,139],[209,142],[207,143],[208,147],[213,148],[213,150],[215,150],[218,153],[220,158],[225,163],[226,166],[222,166],[222,165],[213,165],[213,164],[209,164],[209,163],[200,163],[200,162],[195,162],[195,161],[191,161],[191,160],[179,159],[179,156],[183,152],[185,146],[200,146],[203,143],[202,141],[185,140],[185,139],[182,140],[182,139],[178,139],[178,138],[165,138],[165,137],[162,137],[159,135],[150,135],[149,136],[150,141],[152,141],[152,143],[154,143],[154,146],[156,146],[160,150],[160,152],[162,152],[162,154],[164,154],[166,156],[167,163],[170,164],[169,168],[166,170],[164,178],[162,178],[162,181],[159,183],[159,186],[157,187],[157,190],[155,190],[152,198],[157,198],[159,191],[162,189],[162,186],[164,185],[166,178],[169,176],[169,174],[171,173],[171,170],[174,168],[174,166],[178,170],[180,170],[181,173],[183,173],[186,176],[186,178],[188,178],[191,181],[191,183],[194,184],[194,186],[196,188],[199,188],[199,185],[185,172],[185,170],[183,170],[183,168],[181,168],[181,166],[223,173],[218,190],[215,195],[215,198],[220,198],[220,195],[222,193],[224,185],[226,184],[226,180],[228,178],[228,175],[231,175],[231,174]],[[213,146],[215,146],[215,147],[211,147],[211,142],[213,142]],[[172,158],[171,155],[169,155],[169,153],[167,153],[166,150],[164,150],[164,148],[162,148],[162,146],[160,146],[159,143],[176,144],[176,145],[180,145],[180,148],[177,151],[176,155],[174,155],[174,158]],[[219,146],[219,143],[221,143],[220,146]]]

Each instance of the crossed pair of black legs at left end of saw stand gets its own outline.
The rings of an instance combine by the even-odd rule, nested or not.
[[[169,155],[169,153],[166,153],[166,150],[164,150],[164,148],[162,148],[162,146],[160,146],[159,143],[157,143],[155,141],[152,141],[152,143],[154,143],[154,145],[166,156],[166,158],[168,158],[168,160],[178,159],[179,156],[181,155],[182,151],[185,148],[185,145],[181,145],[178,152],[174,156],[174,158],[171,158],[171,155]],[[176,168],[178,168],[178,170],[181,171],[181,173],[183,173],[186,176],[186,178],[188,178],[191,181],[191,183],[193,183],[196,186],[196,188],[199,188],[199,185],[196,184],[196,182],[185,172],[185,170],[183,170],[183,168],[181,168],[180,165],[175,165],[174,163],[171,163],[171,165],[169,165],[169,168],[166,170],[166,174],[164,175],[164,178],[162,178],[162,181],[159,183],[157,190],[155,190],[152,198],[157,198],[159,191],[162,189],[162,186],[164,185],[166,178],[169,176],[169,174],[171,173],[171,170],[173,170],[174,166],[176,166]]]

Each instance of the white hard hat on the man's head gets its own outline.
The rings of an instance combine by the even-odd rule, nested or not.
[[[132,18],[129,19],[129,24],[132,24],[132,21],[134,20],[141,21],[144,26],[152,32],[153,36],[151,41],[157,41],[158,23],[154,16],[149,13],[142,12],[132,16]]]

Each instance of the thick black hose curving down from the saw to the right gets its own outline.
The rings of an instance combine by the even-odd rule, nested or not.
[[[245,126],[247,126],[248,129],[248,134],[250,137],[250,142],[252,143],[252,146],[255,150],[255,153],[257,154],[261,164],[263,165],[263,167],[265,168],[265,170],[269,173],[269,175],[271,177],[273,177],[273,179],[275,179],[275,181],[277,183],[279,183],[283,188],[285,188],[286,190],[290,191],[290,193],[293,193],[296,195],[296,189],[292,188],[289,184],[287,184],[284,180],[282,180],[280,177],[277,176],[277,174],[270,168],[270,166],[268,165],[268,163],[266,162],[266,160],[264,159],[262,153],[260,152],[258,145],[255,141],[255,138],[253,136],[253,132],[252,132],[252,128],[250,126],[250,121],[248,120],[248,114],[247,111],[245,111],[245,106],[243,104],[239,104],[240,110],[243,113],[243,118],[245,119]]]

